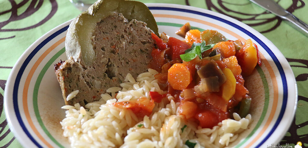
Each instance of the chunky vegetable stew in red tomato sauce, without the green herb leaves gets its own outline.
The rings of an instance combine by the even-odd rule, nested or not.
[[[205,31],[207,34],[213,32]],[[189,34],[189,38],[201,43],[208,39],[205,33],[199,31]],[[201,36],[197,37],[197,34]],[[245,75],[249,75],[257,63],[261,64],[257,46],[251,40],[244,45],[239,40],[218,42],[224,38],[220,33],[215,35],[218,36],[212,38],[217,41],[216,45],[212,44],[208,51],[187,61],[182,60],[180,55],[186,54],[187,49],[197,50],[191,48],[192,44],[195,47],[204,45],[195,45],[191,39],[188,43],[176,38],[160,39],[152,34],[156,46],[148,67],[159,72],[154,77],[160,89],[168,91],[175,98],[174,101],[180,103],[179,114],[186,120],[195,121],[202,128],[213,128],[238,111],[241,100],[249,97],[241,75],[242,67],[249,69],[244,71]],[[214,41],[212,38],[209,41]],[[238,61],[238,58],[241,59]],[[250,61],[255,62],[255,65],[249,64]],[[141,97],[113,105],[131,109],[139,117],[149,116],[154,102],[161,102],[167,93],[150,92],[151,100]]]

